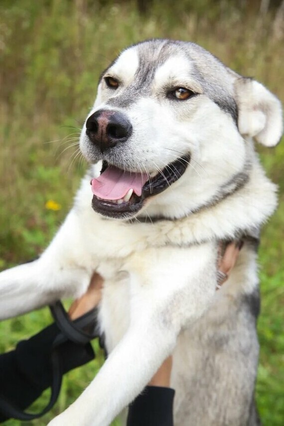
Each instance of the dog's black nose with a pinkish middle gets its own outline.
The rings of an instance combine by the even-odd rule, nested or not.
[[[86,135],[102,152],[118,142],[127,141],[131,134],[132,124],[118,111],[96,111],[86,122]]]

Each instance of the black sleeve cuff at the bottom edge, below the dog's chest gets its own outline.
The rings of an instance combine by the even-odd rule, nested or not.
[[[129,406],[127,426],[173,426],[174,390],[146,386]]]

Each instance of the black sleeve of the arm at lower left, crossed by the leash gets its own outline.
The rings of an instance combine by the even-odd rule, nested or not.
[[[54,323],[30,339],[19,342],[15,350],[0,355],[0,398],[24,410],[51,386],[50,355],[59,333]],[[78,345],[67,340],[56,350],[63,374],[94,358],[90,343]],[[0,422],[5,420],[7,417],[0,413]]]

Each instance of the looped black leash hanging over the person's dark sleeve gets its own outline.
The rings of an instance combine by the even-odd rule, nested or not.
[[[6,400],[5,397],[0,395],[0,413],[8,419],[13,418],[23,421],[35,420],[51,410],[58,399],[63,376],[57,348],[68,340],[78,345],[86,345],[92,339],[99,336],[97,325],[98,311],[96,308],[82,315],[80,318],[77,318],[75,321],[71,321],[59,300],[49,307],[58,328],[61,330],[61,333],[59,333],[53,341],[50,354],[52,380],[49,403],[40,413],[32,414],[18,409],[14,404]]]

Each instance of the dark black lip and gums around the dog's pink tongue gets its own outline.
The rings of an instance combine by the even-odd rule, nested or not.
[[[142,194],[140,197],[133,193],[129,201],[117,204],[116,202],[112,202],[110,200],[102,200],[94,195],[92,200],[92,208],[97,213],[110,218],[130,218],[142,209],[148,197],[163,192],[172,183],[177,181],[185,172],[189,161],[190,154],[187,154],[177,158],[172,163],[169,163],[156,176],[145,182],[142,187]],[[103,161],[102,171],[104,171],[107,166],[108,163]]]

